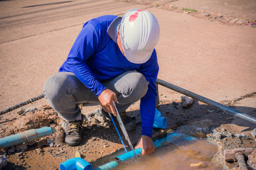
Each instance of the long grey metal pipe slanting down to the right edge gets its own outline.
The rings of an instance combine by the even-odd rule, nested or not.
[[[216,108],[219,108],[222,111],[227,111],[228,113],[232,113],[232,114],[234,114],[235,116],[237,116],[239,118],[242,118],[244,120],[247,120],[247,121],[249,121],[251,123],[255,123],[256,124],[256,118],[254,118],[254,117],[252,117],[250,115],[247,115],[245,113],[242,113],[240,111],[236,111],[233,108],[228,108],[227,106],[224,106],[224,105],[222,105],[220,103],[212,101],[212,100],[210,100],[208,98],[205,98],[203,96],[200,96],[198,94],[194,94],[191,91],[187,91],[186,89],[182,89],[181,87],[175,86],[174,84],[170,84],[169,82],[163,81],[161,79],[156,79],[156,83],[160,84],[161,86],[165,86],[165,87],[167,87],[169,89],[172,89],[174,91],[178,91],[178,93],[184,94],[186,96],[190,96],[191,98],[195,98],[196,100],[202,101],[203,103],[206,103],[206,104],[208,104],[210,106],[215,106]]]

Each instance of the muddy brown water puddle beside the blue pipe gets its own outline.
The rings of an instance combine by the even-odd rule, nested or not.
[[[181,170],[181,169],[221,169],[210,161],[218,152],[218,147],[206,139],[197,139],[181,145],[165,145],[156,149],[154,154],[132,159],[119,164],[117,169],[133,170]]]

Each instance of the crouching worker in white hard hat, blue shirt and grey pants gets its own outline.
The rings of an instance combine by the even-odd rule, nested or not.
[[[142,136],[136,148],[142,154],[154,152],[158,40],[159,23],[149,11],[132,9],[122,17],[100,16],[84,24],[67,60],[44,85],[48,103],[65,120],[66,144],[82,142],[78,103],[100,103],[102,113],[116,116],[114,101],[130,131],[135,121],[125,110],[140,99]]]

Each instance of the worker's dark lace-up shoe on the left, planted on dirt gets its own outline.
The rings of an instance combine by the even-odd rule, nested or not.
[[[82,142],[82,120],[75,122],[65,122],[65,143],[70,146],[77,146]]]

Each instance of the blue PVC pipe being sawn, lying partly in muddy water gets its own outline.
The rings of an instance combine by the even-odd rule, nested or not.
[[[191,137],[189,135],[186,135],[184,133],[179,133],[179,132],[174,132],[171,134],[166,135],[166,137],[163,137],[161,139],[157,139],[154,141],[154,145],[155,147],[161,147],[163,145],[166,145],[168,143],[181,143],[181,142],[187,142],[187,141],[191,141],[191,140],[196,140],[196,137]],[[141,148],[137,148],[134,150],[136,152],[137,155],[142,154],[142,149]],[[124,162],[127,159],[130,159],[132,157],[135,157],[134,153],[132,151],[127,152],[125,154],[121,154],[117,157],[117,159],[120,162]],[[118,162],[117,161],[112,161],[112,162],[108,162],[107,164],[103,164],[102,166],[97,167],[95,170],[109,170],[109,169],[114,169],[115,167],[118,166]]]

